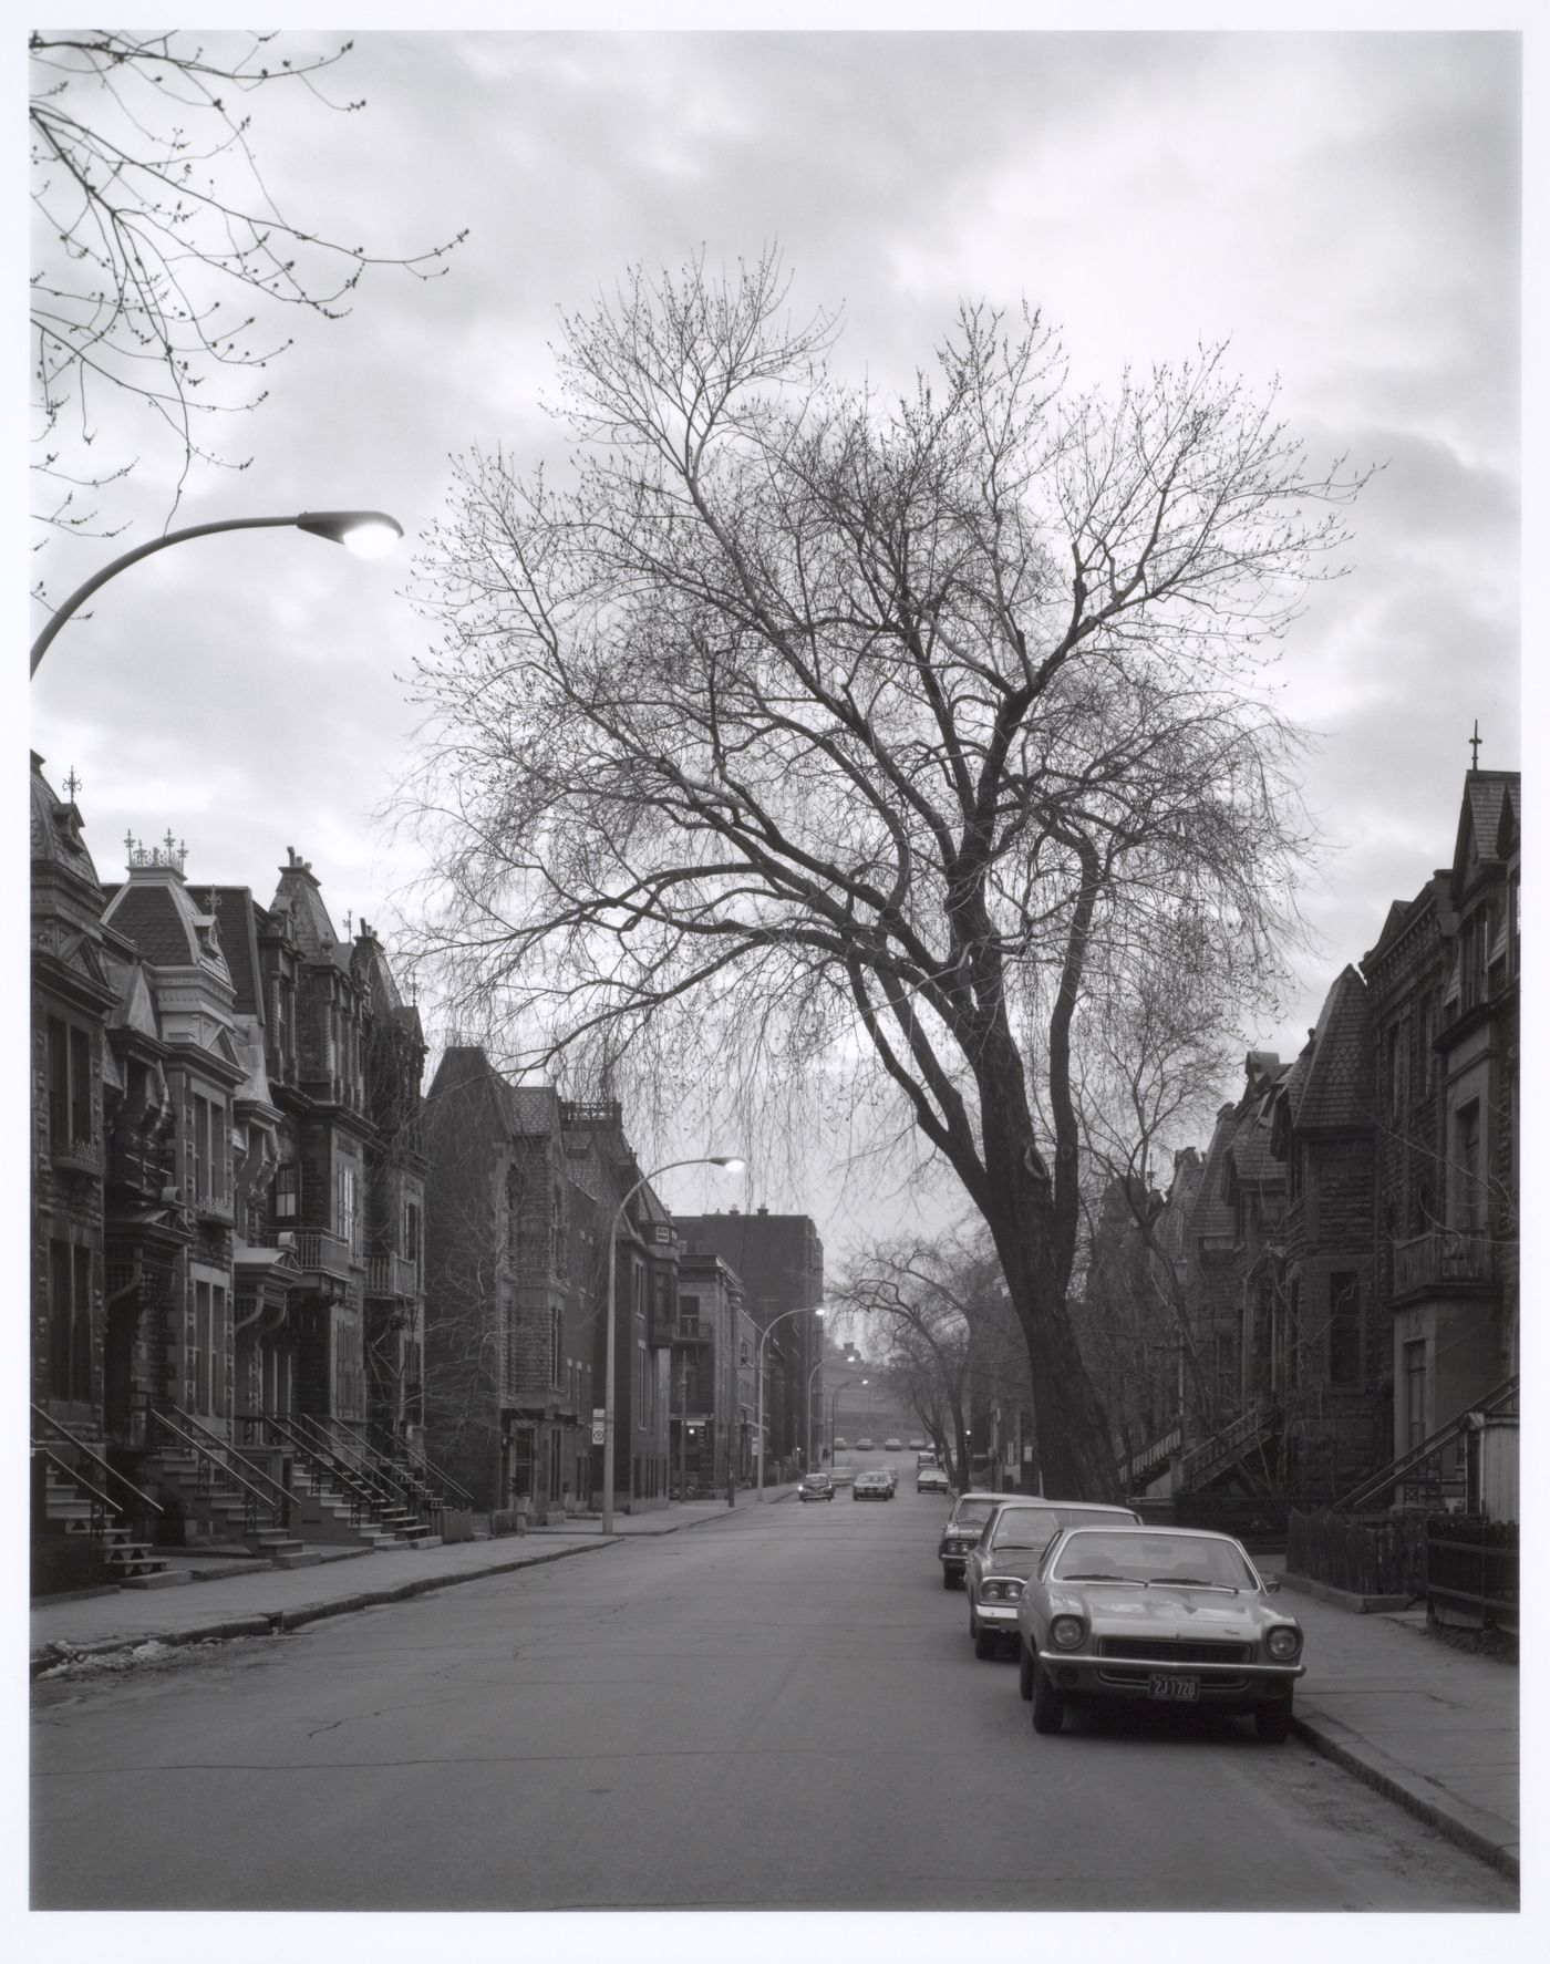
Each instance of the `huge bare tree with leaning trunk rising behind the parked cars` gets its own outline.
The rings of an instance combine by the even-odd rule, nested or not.
[[[1302,839],[1251,682],[1354,483],[1220,350],[1073,393],[1035,314],[970,306],[884,405],[786,299],[772,255],[637,271],[562,320],[574,481],[462,460],[422,951],[534,1057],[878,1070],[990,1229],[1047,1477],[1102,1497],[1073,1021],[1177,913],[1271,972]]]

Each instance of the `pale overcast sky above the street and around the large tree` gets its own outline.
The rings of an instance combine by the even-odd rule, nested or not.
[[[1481,764],[1519,766],[1515,35],[358,33],[328,86],[367,108],[251,102],[277,206],[373,251],[468,242],[444,279],[381,269],[346,320],[285,322],[269,401],[224,434],[251,467],[198,475],[179,522],[375,505],[413,542],[450,454],[558,452],[538,409],[558,306],[637,259],[778,242],[798,310],[843,302],[853,377],[906,383],[959,297],[1027,297],[1080,381],[1230,338],[1314,460],[1383,465],[1350,575],[1285,648],[1330,852],[1301,996],[1257,1045],[1291,1055],[1389,903],[1450,858],[1475,719]],[[41,556],[55,595],[167,515],[175,460],[143,414],[96,414],[141,465],[118,540]],[[389,919],[405,866],[371,813],[413,738],[395,678],[428,634],[409,542],[361,564],[295,532],[200,540],[65,628],[31,740],[55,788],[81,780],[104,880],[126,831],[171,829],[193,882],[267,901],[295,846],[340,925]],[[872,1218],[752,1198],[815,1214],[831,1249]]]

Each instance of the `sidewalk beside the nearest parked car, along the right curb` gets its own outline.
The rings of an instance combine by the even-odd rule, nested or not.
[[[1306,1636],[1295,1734],[1517,1878],[1517,1669],[1428,1636],[1424,1609],[1357,1614],[1295,1579],[1281,1601]]]

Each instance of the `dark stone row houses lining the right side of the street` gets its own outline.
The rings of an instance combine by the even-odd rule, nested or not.
[[[1302,1051],[1249,1053],[1165,1198],[1108,1196],[1088,1288],[1137,1292],[1139,1261],[1173,1351],[1171,1398],[1157,1359],[1104,1387],[1135,1491],[1475,1504],[1469,1428],[1515,1438],[1519,805],[1517,772],[1471,770],[1452,864],[1395,901]]]

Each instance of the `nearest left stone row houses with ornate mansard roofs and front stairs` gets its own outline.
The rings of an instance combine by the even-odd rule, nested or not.
[[[413,1449],[424,1043],[306,862],[261,905],[130,839],[104,882],[33,758],[31,1057],[35,1465],[153,1497],[139,1526],[193,1542],[230,1538],[212,1483],[289,1479],[287,1428]]]

